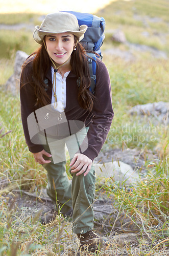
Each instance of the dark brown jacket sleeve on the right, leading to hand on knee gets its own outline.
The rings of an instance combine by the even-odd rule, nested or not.
[[[109,73],[101,60],[97,62],[95,99],[92,109],[94,116],[87,133],[88,147],[82,153],[92,161],[101,151],[114,116]]]

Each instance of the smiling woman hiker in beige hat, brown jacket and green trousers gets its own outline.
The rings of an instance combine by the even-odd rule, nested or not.
[[[94,251],[100,241],[92,231],[93,160],[113,119],[109,74],[98,58],[93,96],[87,57],[79,43],[87,26],[79,27],[73,14],[48,14],[35,28],[33,37],[41,47],[23,65],[20,79],[23,131],[35,161],[47,170],[47,194],[63,215],[73,211],[73,231],[82,248]],[[65,145],[71,183],[65,172]]]

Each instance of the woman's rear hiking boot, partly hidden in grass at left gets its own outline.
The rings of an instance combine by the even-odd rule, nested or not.
[[[60,212],[60,214],[62,214],[62,212]],[[58,211],[56,210],[44,212],[43,216],[41,216],[40,218],[40,222],[42,223],[42,225],[49,224],[55,220],[57,215],[58,215]],[[70,208],[67,212],[65,212],[65,214],[62,214],[62,215],[64,218],[73,216],[73,208]]]

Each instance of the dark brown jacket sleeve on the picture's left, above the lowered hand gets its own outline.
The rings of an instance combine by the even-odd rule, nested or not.
[[[28,116],[35,111],[36,96],[34,88],[28,81],[32,79],[30,63],[22,70],[20,76],[20,108],[23,132],[25,134],[26,143],[29,151],[37,153],[43,150],[43,146],[31,142],[28,129]],[[25,84],[26,83],[26,84]],[[25,84],[25,85],[23,85]],[[23,85],[23,86],[22,86]]]

